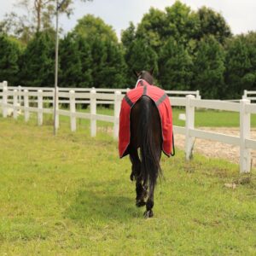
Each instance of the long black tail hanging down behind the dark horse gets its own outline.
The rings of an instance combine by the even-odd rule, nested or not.
[[[153,112],[158,113],[158,109],[154,102],[148,96],[141,98],[141,114],[140,114],[140,137],[141,137],[141,175],[143,184],[155,185],[160,170],[160,152],[157,150],[158,145],[155,145],[154,140],[154,122],[160,121],[154,119]],[[160,131],[159,131],[160,132]]]

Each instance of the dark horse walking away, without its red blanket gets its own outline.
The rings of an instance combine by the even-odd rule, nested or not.
[[[152,73],[153,70],[136,73],[137,79],[153,84]],[[153,217],[154,187],[161,170],[161,145],[159,111],[148,96],[142,96],[131,108],[131,140],[128,150],[132,164],[131,180],[136,180],[136,205],[146,205],[145,218]]]

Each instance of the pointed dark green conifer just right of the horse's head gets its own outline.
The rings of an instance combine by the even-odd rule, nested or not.
[[[160,51],[160,84],[166,90],[189,90],[193,77],[192,65],[192,58],[184,46],[170,38]]]

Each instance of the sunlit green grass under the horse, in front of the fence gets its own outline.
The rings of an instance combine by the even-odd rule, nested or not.
[[[46,119],[47,120],[47,119]],[[183,152],[162,157],[154,218],[135,207],[131,164],[89,125],[58,135],[0,117],[0,255],[255,255],[255,170]]]

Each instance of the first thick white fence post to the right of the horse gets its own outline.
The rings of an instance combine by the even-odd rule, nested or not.
[[[195,127],[195,107],[190,106],[190,101],[195,99],[195,96],[186,96],[186,132],[185,132],[185,156],[186,160],[192,158],[192,150],[195,142],[195,137],[189,136],[189,129]]]

